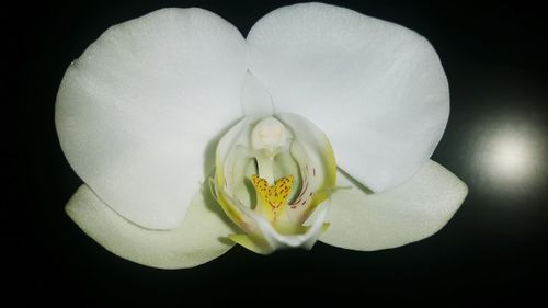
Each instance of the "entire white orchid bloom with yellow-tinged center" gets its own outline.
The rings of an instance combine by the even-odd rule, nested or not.
[[[243,38],[212,12],[159,10],[67,69],[56,126],[84,184],[66,210],[105,249],[163,269],[235,243],[399,247],[467,194],[430,160],[448,113],[437,54],[406,27],[304,3]]]

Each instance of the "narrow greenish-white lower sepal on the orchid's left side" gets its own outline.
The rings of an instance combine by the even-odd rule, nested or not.
[[[183,224],[173,230],[150,230],[132,224],[104,204],[87,185],[66,207],[82,230],[106,250],[133,262],[160,269],[193,267],[208,262],[232,243],[221,240],[233,232],[215,201],[194,195]]]

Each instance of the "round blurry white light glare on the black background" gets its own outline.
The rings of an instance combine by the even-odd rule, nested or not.
[[[523,118],[483,122],[472,130],[472,191],[509,203],[526,199],[546,179],[546,140],[541,125]]]

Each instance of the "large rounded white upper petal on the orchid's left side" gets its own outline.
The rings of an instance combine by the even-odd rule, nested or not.
[[[165,9],[109,28],[67,70],[56,104],[62,150],[125,218],[178,227],[206,146],[241,115],[244,41],[201,9]]]

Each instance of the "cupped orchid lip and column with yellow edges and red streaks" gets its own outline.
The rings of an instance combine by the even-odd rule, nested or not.
[[[229,238],[259,253],[310,248],[323,230],[336,164],[326,135],[307,119],[244,118],[219,141],[213,193],[246,233]]]

